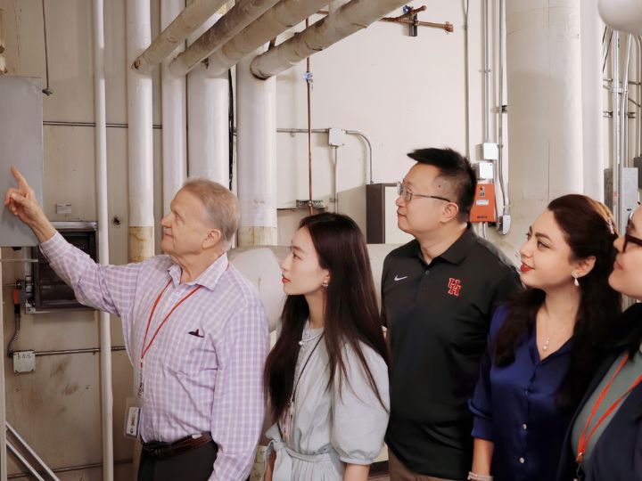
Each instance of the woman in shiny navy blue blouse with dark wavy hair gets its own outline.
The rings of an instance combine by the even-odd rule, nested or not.
[[[526,289],[498,309],[470,407],[473,481],[555,479],[572,412],[621,310],[608,285],[613,217],[571,194],[553,200],[520,249]]]

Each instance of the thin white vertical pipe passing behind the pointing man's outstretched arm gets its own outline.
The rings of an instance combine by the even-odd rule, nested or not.
[[[98,259],[109,264],[109,214],[107,210],[107,113],[104,71],[104,4],[93,2],[94,19],[94,118],[96,210],[98,213]],[[111,329],[110,315],[101,311],[100,380],[101,420],[103,428],[103,480],[113,480],[113,397],[111,394]]]

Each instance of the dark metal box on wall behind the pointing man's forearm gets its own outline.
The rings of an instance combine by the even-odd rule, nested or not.
[[[98,260],[95,222],[54,222],[53,226],[70,244]],[[32,248],[32,258],[37,259],[31,271],[31,295],[27,298],[25,311],[39,314],[60,309],[89,309],[76,300],[71,289],[58,274],[38,247]]]

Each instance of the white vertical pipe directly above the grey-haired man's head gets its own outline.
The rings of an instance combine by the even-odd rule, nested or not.
[[[221,18],[213,15],[201,29]],[[200,36],[194,33],[194,40]],[[229,185],[229,85],[227,72],[210,77],[200,64],[187,74],[187,144],[189,176]]]

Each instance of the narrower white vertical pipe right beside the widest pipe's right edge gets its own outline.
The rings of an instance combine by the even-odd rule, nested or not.
[[[604,200],[604,118],[602,105],[602,35],[604,24],[597,14],[597,0],[581,7],[582,142],[584,193]]]

